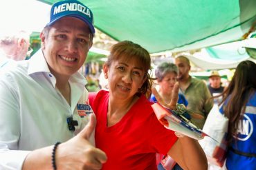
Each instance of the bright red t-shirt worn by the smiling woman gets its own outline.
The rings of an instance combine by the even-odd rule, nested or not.
[[[140,96],[137,102],[111,127],[107,127],[109,92],[89,94],[96,115],[95,145],[107,154],[102,169],[157,169],[156,153],[166,154],[177,137],[158,122],[152,103]]]

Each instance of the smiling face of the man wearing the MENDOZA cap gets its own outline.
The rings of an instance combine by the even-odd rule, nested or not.
[[[88,25],[74,17],[54,23],[48,34],[41,34],[42,50],[55,76],[71,76],[82,67],[91,47]]]

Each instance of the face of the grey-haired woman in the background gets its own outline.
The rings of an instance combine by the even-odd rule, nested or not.
[[[164,94],[170,94],[174,88],[174,84],[176,83],[176,77],[176,73],[170,72],[164,76],[162,81],[158,81],[161,92]]]

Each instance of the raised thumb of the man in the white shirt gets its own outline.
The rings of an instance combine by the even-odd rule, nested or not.
[[[96,126],[95,114],[89,114],[89,116],[90,116],[89,123],[79,133],[82,137],[86,138],[87,140],[90,138],[91,134],[93,134],[93,131]]]

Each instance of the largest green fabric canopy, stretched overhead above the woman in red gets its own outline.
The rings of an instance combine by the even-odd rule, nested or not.
[[[255,0],[80,1],[93,11],[98,30],[151,53],[239,41],[256,21]]]

